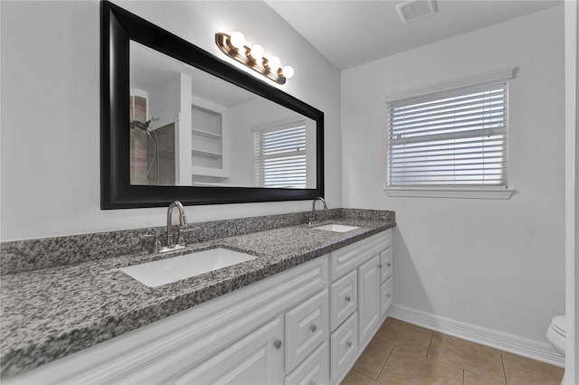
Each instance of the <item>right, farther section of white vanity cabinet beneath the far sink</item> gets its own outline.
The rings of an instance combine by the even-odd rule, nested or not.
[[[392,305],[392,230],[332,252],[329,269],[330,371],[339,383]]]

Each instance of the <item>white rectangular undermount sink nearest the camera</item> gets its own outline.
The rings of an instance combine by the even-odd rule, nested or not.
[[[256,257],[249,254],[218,248],[119,268],[119,270],[137,279],[143,285],[157,287],[227,268],[254,258]]]

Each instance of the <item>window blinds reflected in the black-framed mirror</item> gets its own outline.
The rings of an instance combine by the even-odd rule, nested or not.
[[[262,187],[306,188],[306,122],[253,132],[255,182]]]

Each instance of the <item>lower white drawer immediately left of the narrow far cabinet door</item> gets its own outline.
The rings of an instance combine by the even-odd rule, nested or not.
[[[350,315],[330,338],[330,370],[332,383],[349,371],[358,352],[358,314]]]

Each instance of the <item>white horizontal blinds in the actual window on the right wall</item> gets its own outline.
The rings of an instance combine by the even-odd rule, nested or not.
[[[507,82],[388,102],[388,187],[507,186]]]

